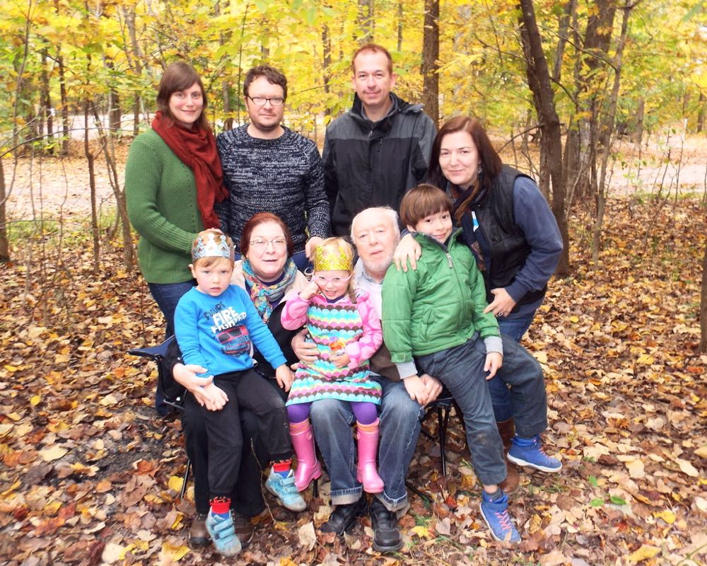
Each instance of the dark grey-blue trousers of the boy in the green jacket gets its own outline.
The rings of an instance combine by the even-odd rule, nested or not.
[[[547,427],[547,398],[540,364],[508,336],[503,339],[503,366],[496,374],[511,386],[510,403],[518,436],[534,437]],[[486,346],[469,340],[461,346],[417,357],[419,368],[447,386],[464,414],[467,444],[479,481],[484,485],[506,479],[503,443],[486,387]]]

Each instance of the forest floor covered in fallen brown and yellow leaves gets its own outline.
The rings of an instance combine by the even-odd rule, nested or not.
[[[47,183],[66,170],[69,192],[86,186],[76,180],[86,175],[81,158],[51,171],[49,161]],[[452,418],[448,475],[436,443],[420,439],[409,479],[431,500],[410,492],[405,545],[390,556],[371,550],[367,518],[342,539],[317,531],[330,511],[327,478],[299,515],[267,495],[238,558],[189,550],[180,422],[156,417],[154,368],[126,353],[162,337],[146,285],[105,231],[93,271],[86,188],[83,205],[64,204],[63,224],[13,224],[14,262],[0,268],[0,565],[705,564],[697,313],[707,219],[696,187],[692,197],[665,199],[667,187],[662,198],[645,188],[611,197],[596,267],[592,221],[581,210],[571,217],[571,275],[551,281],[523,341],[546,371],[544,440],[564,467],[522,473],[510,512],[523,542],[491,540]],[[54,204],[42,206],[56,219]]]

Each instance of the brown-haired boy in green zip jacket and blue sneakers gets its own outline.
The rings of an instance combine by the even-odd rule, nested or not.
[[[502,337],[492,313],[484,313],[486,289],[476,261],[452,226],[452,200],[433,185],[419,185],[400,204],[403,224],[423,253],[417,270],[392,265],[382,287],[383,340],[404,385],[415,398],[419,370],[437,376],[464,414],[472,463],[484,489],[481,515],[498,541],[519,543],[508,514],[503,443],[486,380],[498,374],[511,386],[517,436],[509,458],[524,466],[559,471],[561,463],[542,451],[547,399],[537,361]],[[418,370],[419,368],[419,370]]]

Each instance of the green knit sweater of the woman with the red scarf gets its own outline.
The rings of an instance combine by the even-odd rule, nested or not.
[[[192,279],[192,242],[204,229],[194,173],[153,129],[130,146],[125,197],[130,223],[140,234],[137,256],[146,281]]]

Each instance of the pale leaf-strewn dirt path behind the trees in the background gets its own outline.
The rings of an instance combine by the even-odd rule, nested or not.
[[[501,141],[501,138],[498,140]],[[129,141],[117,146],[120,187],[124,183],[128,144]],[[98,147],[94,147],[93,151],[98,154]],[[666,159],[668,151],[670,163]],[[514,158],[513,151],[506,149],[502,157],[509,164],[515,164],[517,158],[517,166],[523,170],[528,169],[527,160],[520,151],[516,152]],[[534,160],[537,163],[537,155]],[[28,221],[42,216],[57,218],[59,214],[78,223],[88,220],[88,164],[83,156],[83,145],[78,141],[71,146],[69,157],[64,159],[23,157],[18,160],[16,168],[12,159],[5,159],[3,165],[6,185],[10,191],[8,220]],[[95,171],[96,202],[100,213],[112,214],[115,197],[101,154],[97,155]],[[691,136],[685,140],[684,145],[679,137],[673,137],[670,145],[665,144],[664,137],[658,142],[651,140],[648,148],[641,149],[640,156],[633,144],[621,141],[617,146],[614,170],[610,174],[609,187],[614,195],[629,195],[637,190],[655,194],[659,187],[662,187],[662,194],[667,190],[674,193],[676,186],[679,186],[680,192],[697,192],[702,195],[707,191],[707,139]]]

